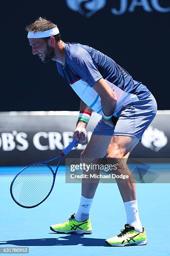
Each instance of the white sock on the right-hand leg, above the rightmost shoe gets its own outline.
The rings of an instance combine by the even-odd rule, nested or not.
[[[137,200],[124,202],[124,206],[127,216],[127,224],[133,226],[135,231],[141,233],[143,228],[139,218]]]

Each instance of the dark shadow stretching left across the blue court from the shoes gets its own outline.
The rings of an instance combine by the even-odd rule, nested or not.
[[[64,240],[60,240],[62,238]],[[58,238],[41,238],[0,241],[0,245],[12,244],[15,246],[71,246],[82,244],[82,246],[107,246],[105,239],[86,238],[83,235],[67,235]]]

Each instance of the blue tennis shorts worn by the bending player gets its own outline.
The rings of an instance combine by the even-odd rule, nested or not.
[[[130,102],[122,106],[115,127],[107,125],[102,119],[97,123],[92,134],[94,135],[124,135],[139,138],[155,118],[157,103],[153,95],[145,100]]]

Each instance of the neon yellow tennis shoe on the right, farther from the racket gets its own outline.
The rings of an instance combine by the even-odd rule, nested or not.
[[[142,233],[139,233],[128,224],[125,224],[125,229],[122,229],[119,235],[108,238],[105,241],[110,246],[135,246],[148,243],[145,228],[143,228]]]

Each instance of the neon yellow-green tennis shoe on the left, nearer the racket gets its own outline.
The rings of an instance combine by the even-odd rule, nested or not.
[[[65,233],[65,234],[91,234],[92,233],[92,225],[90,223],[90,219],[79,222],[75,220],[75,214],[72,214],[70,219],[65,221],[64,223],[51,225],[50,230],[56,233]]]

